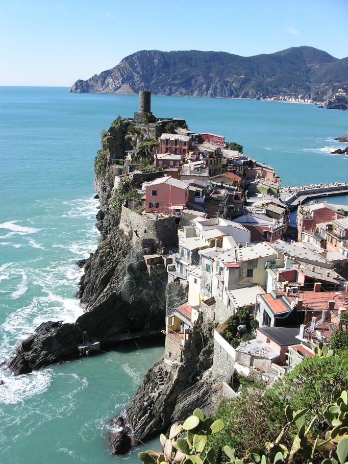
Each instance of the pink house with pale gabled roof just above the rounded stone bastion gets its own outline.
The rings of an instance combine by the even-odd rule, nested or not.
[[[180,214],[189,197],[189,184],[172,177],[160,177],[143,184],[145,209],[163,213]]]

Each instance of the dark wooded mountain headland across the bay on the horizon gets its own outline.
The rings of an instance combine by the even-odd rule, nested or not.
[[[348,85],[348,58],[341,60],[313,47],[292,47],[269,55],[242,57],[226,52],[143,50],[70,92],[264,98],[332,93]],[[320,93],[319,93],[320,92]]]

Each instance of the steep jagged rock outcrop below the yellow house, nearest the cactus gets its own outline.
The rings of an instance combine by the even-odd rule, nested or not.
[[[183,349],[183,362],[159,360],[143,377],[122,421],[131,427],[129,445],[137,445],[183,421],[188,411],[200,407],[212,412],[214,380],[202,380],[212,365],[212,325],[191,329]],[[116,420],[116,423],[119,419]],[[122,432],[120,432],[122,433]],[[125,438],[125,435],[122,434]],[[127,438],[125,438],[127,440]],[[112,436],[114,454],[125,451],[119,434]],[[122,444],[122,445],[121,445]]]

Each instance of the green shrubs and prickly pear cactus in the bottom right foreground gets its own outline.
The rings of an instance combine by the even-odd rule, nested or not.
[[[317,349],[270,388],[247,386],[224,400],[214,417],[196,409],[168,438],[161,435],[163,451],[139,458],[146,464],[346,463],[347,365],[347,349],[336,355]]]

